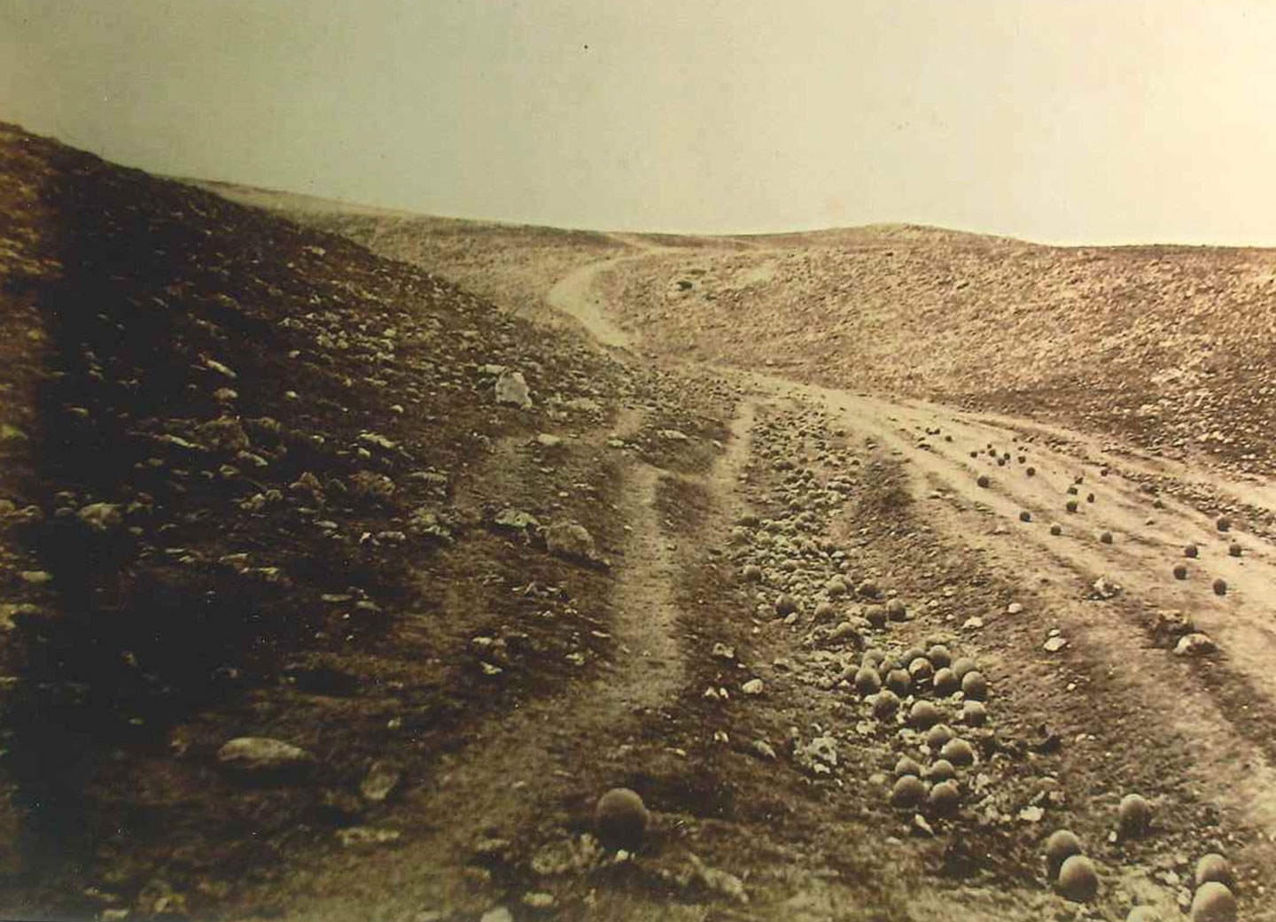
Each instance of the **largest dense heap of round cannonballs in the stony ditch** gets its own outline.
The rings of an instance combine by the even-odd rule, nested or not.
[[[975,764],[975,749],[943,722],[944,714],[935,701],[921,698],[931,692],[940,699],[961,695],[961,712],[956,721],[967,727],[980,727],[988,721],[984,700],[988,680],[966,657],[954,659],[942,643],[928,649],[911,647],[896,655],[878,648],[864,652],[854,677],[855,691],[869,704],[879,721],[900,719],[905,700],[915,698],[903,721],[924,735],[924,751],[929,755],[923,766],[909,755],[894,765],[891,805],[901,810],[925,806],[935,816],[952,816],[961,806],[958,769]]]

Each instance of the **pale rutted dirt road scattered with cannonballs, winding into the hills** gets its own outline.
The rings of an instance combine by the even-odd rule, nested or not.
[[[605,344],[633,344],[607,320],[596,284],[601,273],[623,268],[624,260],[610,260],[577,272],[550,301]],[[1014,615],[979,612],[956,624],[949,615],[948,624],[933,627],[957,629],[1025,718],[1049,722],[1077,742],[1065,763],[1106,779],[1109,789],[1073,794],[1079,800],[1073,814],[1114,811],[1128,791],[1148,794],[1169,812],[1185,809],[1185,794],[1220,811],[1234,860],[1271,866],[1276,546],[1235,527],[1221,531],[1217,514],[1202,504],[1159,499],[1147,486],[1169,478],[1191,485],[1196,495],[1211,491],[1220,504],[1271,508],[1271,485],[1224,481],[1032,420],[717,371],[745,390],[746,406],[814,409],[829,426],[849,430],[866,459],[902,465],[923,528],[944,545],[975,551],[1017,588],[1022,611]],[[718,479],[713,488],[731,496],[744,487]],[[1068,511],[1069,501],[1076,511]],[[1184,555],[1188,545],[1198,556]],[[1176,565],[1187,567],[1184,579],[1176,578]],[[1220,579],[1226,588],[1216,590]],[[1217,649],[1176,654],[1193,631]],[[1059,638],[1062,649],[1048,652],[1050,638]],[[1219,844],[1201,833],[1197,851],[1207,839]],[[1142,884],[1125,880],[1127,895],[1142,894],[1166,912],[1175,911],[1175,900],[1182,908],[1182,886],[1162,884],[1164,893],[1156,893]],[[1263,891],[1258,884],[1254,895]],[[1256,907],[1252,917],[1265,912]]]

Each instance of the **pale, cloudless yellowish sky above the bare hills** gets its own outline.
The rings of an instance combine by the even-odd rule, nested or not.
[[[466,218],[1276,245],[1272,0],[0,0],[0,120]]]

